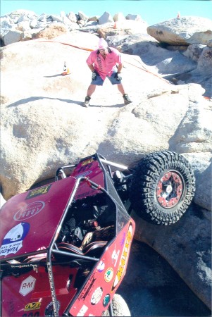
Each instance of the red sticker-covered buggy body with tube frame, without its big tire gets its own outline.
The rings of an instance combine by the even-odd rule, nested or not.
[[[120,202],[116,204],[118,193],[115,188],[113,190],[113,182],[106,180],[110,177],[109,173],[103,171],[96,157],[98,158],[90,156],[80,161],[69,177],[18,194],[1,208],[0,260],[4,266],[1,269],[2,317],[56,316],[56,306],[58,316],[63,316],[63,313],[68,311],[71,316],[100,316],[108,309],[127,269],[135,222],[124,206],[120,206]],[[87,180],[82,179],[79,184],[77,179],[82,177]],[[93,185],[89,180],[94,182]],[[79,205],[83,206],[87,197],[90,201],[98,200],[96,197],[91,199],[90,196],[99,194],[98,198],[103,192],[108,199],[110,195],[106,190],[101,190],[101,187],[106,187],[106,181],[110,184],[110,189],[112,188],[113,201],[110,198],[110,208],[101,211],[106,214],[105,219],[101,218],[103,213],[100,216],[97,213],[100,225],[92,228],[89,220],[92,223],[94,218],[83,218],[87,209],[76,207],[77,205],[70,206],[70,197],[73,199],[72,194],[79,185],[74,196]],[[102,200],[104,204],[107,204],[106,198]],[[95,210],[98,211],[97,207]],[[77,216],[82,212],[82,217],[80,222],[76,220],[76,233],[73,235],[71,225],[74,223],[74,212]],[[91,213],[87,214],[90,216]],[[92,216],[94,217],[94,213]],[[67,227],[67,237],[69,239],[68,235],[72,235],[73,240],[68,243],[73,245],[77,243],[76,237],[80,240],[80,234],[85,235],[83,230],[86,232],[85,237],[91,239],[93,234],[89,230],[96,230],[97,233],[99,230],[100,241],[87,240],[88,250],[89,242],[92,247],[96,247],[97,242],[104,242],[100,243],[101,247],[100,244],[96,247],[98,255],[92,254],[96,252],[95,248],[91,248],[91,254],[86,252],[87,258],[83,252],[73,256],[71,251],[66,254],[59,250],[60,242],[66,238],[63,225],[64,228],[70,225]],[[111,226],[113,233],[102,237],[103,231],[100,230],[104,229],[104,226]],[[48,261],[45,253],[47,249]],[[44,254],[37,254],[40,250],[44,250]],[[96,261],[97,258],[99,261]]]

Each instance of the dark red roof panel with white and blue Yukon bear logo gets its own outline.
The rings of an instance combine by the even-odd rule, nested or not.
[[[18,194],[4,204],[0,259],[49,247],[76,179],[58,182]]]

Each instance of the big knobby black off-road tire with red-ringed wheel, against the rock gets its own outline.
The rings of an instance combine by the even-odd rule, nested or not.
[[[132,173],[129,192],[139,217],[158,225],[176,223],[194,197],[192,167],[185,156],[172,151],[148,154]]]

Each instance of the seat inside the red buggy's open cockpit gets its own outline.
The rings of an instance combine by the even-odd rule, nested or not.
[[[103,248],[115,236],[114,225],[106,228],[101,228],[95,231],[87,232],[80,247],[67,242],[60,242],[57,244],[58,250],[70,253],[86,255],[90,251]]]

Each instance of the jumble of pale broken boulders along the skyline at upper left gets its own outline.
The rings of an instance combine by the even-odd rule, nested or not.
[[[52,34],[49,34],[48,38],[50,36],[51,38],[56,37],[58,34],[54,32],[54,25],[57,23],[61,24],[61,28],[65,28],[66,31],[73,31],[77,29],[88,30],[89,27],[101,27],[101,25],[114,26],[114,22],[117,22],[119,25],[121,23],[123,27],[129,28],[130,21],[139,21],[139,24],[135,25],[136,27],[139,27],[143,23],[146,30],[147,25],[139,15],[127,15],[125,17],[123,13],[117,13],[112,17],[111,13],[104,12],[99,17],[93,16],[89,18],[82,11],[79,11],[78,14],[73,12],[66,14],[62,11],[61,15],[47,15],[46,13],[36,15],[32,11],[17,10],[1,17],[0,38],[4,45],[8,45],[23,41],[26,38],[35,39],[41,37],[40,35],[43,34],[45,37],[46,32],[49,34],[51,30]],[[45,30],[46,28],[48,30]],[[94,32],[94,29],[92,31]],[[13,32],[12,35],[11,32]]]

